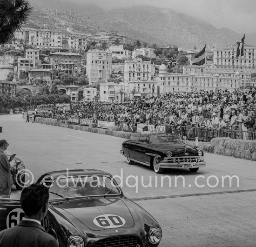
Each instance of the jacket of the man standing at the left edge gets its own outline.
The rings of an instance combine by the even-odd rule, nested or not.
[[[0,150],[0,188],[11,187],[13,178],[11,174],[10,162],[6,154]]]

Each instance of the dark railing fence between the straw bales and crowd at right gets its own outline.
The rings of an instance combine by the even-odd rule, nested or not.
[[[225,128],[208,129],[190,126],[166,126],[166,132],[186,136],[188,140],[195,140],[198,137],[198,140],[202,142],[209,142],[213,138],[220,137],[229,137],[237,140],[256,140],[256,131],[240,131]]]

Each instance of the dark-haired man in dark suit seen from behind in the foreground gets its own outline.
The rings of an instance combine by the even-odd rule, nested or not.
[[[59,247],[53,236],[45,232],[41,220],[47,214],[49,191],[42,184],[32,184],[22,190],[20,204],[25,217],[15,226],[0,232],[0,246]]]

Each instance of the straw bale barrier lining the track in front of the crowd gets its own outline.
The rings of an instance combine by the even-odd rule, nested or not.
[[[23,115],[26,118],[26,115]],[[76,130],[88,131],[97,134],[108,134],[116,137],[121,137],[129,139],[131,133],[117,131],[116,128],[102,129],[95,127],[95,124],[90,124],[90,126],[80,126],[68,124],[67,120],[57,120],[48,118],[35,119],[36,123],[48,124],[53,126],[71,128]],[[195,141],[185,141],[191,146],[195,145]],[[202,148],[203,151],[213,154],[220,154],[226,156],[232,156],[240,159],[246,160],[256,160],[256,141],[255,140],[234,140],[230,138],[214,138],[210,142],[199,142],[198,146]]]

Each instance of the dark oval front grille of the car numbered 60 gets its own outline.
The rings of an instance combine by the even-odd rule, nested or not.
[[[120,236],[100,240],[95,247],[136,247],[141,241],[134,236]]]

